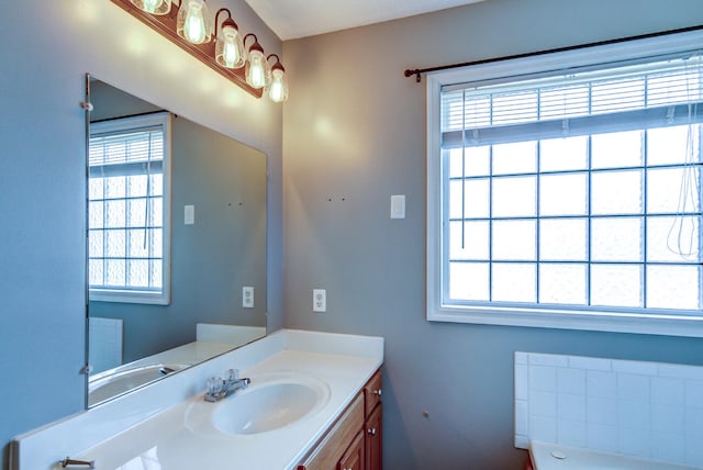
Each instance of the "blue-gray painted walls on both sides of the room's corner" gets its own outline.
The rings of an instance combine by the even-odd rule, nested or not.
[[[228,3],[267,51],[280,47],[244,0]],[[269,156],[269,329],[284,305],[287,326],[386,336],[387,468],[517,468],[515,349],[703,363],[699,339],[425,322],[425,91],[402,77],[703,23],[701,1],[489,0],[288,42],[283,125],[280,107],[214,96],[213,72],[133,22],[108,0],[26,0],[0,19],[0,445],[85,399],[86,71]],[[205,85],[182,93],[192,76]],[[404,221],[388,219],[395,193],[409,198]],[[312,313],[317,287],[326,314]]]

